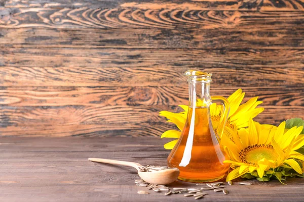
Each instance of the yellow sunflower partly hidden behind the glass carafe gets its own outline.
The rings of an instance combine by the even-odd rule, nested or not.
[[[257,101],[258,97],[253,97],[249,99],[245,104],[240,105],[245,96],[245,92],[242,92],[242,89],[238,89],[232,95],[230,95],[227,100],[230,103],[230,112],[228,115],[228,119],[226,125],[224,127],[223,135],[228,137],[231,141],[234,141],[234,134],[237,133],[238,129],[248,127],[249,118],[254,118],[258,114],[260,114],[264,108],[256,108],[262,102]],[[160,112],[160,116],[164,116],[168,119],[167,122],[174,123],[179,130],[168,130],[164,132],[161,138],[179,138],[181,135],[181,131],[184,127],[184,124],[187,119],[188,106],[180,105],[184,111],[180,113],[172,113],[168,111]],[[215,103],[210,105],[210,115],[212,126],[215,130],[219,127],[220,123],[220,113],[222,106],[216,105]],[[170,141],[164,145],[166,149],[172,149],[176,144],[177,139]]]

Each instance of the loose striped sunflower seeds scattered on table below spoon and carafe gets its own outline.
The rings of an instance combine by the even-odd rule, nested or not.
[[[165,195],[171,194],[183,194],[185,197],[193,196],[195,199],[203,198],[208,193],[205,191],[213,190],[214,192],[223,192],[224,194],[228,194],[228,190],[224,187],[223,182],[213,182],[213,183],[204,183],[204,184],[196,184],[202,185],[200,188],[169,188],[165,185],[159,184],[149,184],[142,179],[135,180],[137,186],[147,187],[147,190],[153,190],[155,192],[163,192]],[[241,183],[240,183],[241,184]],[[232,185],[232,182],[229,181],[229,185]],[[244,184],[245,185],[245,184]],[[246,184],[249,185],[249,184]],[[148,194],[148,191],[139,190],[138,194]]]

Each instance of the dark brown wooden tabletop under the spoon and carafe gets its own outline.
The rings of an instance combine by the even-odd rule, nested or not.
[[[168,150],[154,137],[2,137],[0,201],[193,201],[182,194],[137,194],[136,170],[92,163],[91,157],[165,165]],[[199,201],[303,201],[304,179],[277,180],[252,186],[227,185],[228,195],[214,193]],[[169,187],[197,187],[175,182]]]

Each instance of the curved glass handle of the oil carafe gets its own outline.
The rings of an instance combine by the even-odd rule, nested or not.
[[[221,138],[223,135],[226,121],[227,121],[229,111],[230,111],[229,102],[225,97],[222,97],[222,96],[211,96],[211,99],[212,99],[212,103],[219,103],[223,106],[222,110],[221,110],[221,117],[219,120],[219,125],[217,128],[218,136],[219,136],[219,138]]]

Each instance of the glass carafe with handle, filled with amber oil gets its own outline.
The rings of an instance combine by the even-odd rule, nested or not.
[[[229,103],[222,96],[210,96],[210,73],[188,70],[185,76],[189,84],[189,110],[187,120],[167,162],[169,167],[180,170],[178,179],[188,182],[212,182],[224,177],[230,164],[220,145]],[[222,104],[219,126],[215,131],[210,117],[209,106]]]

